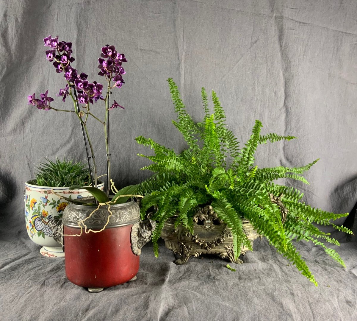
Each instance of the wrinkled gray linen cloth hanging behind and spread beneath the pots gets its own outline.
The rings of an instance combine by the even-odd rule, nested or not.
[[[161,244],[145,246],[135,282],[90,294],[70,283],[64,261],[42,257],[25,231],[24,182],[44,157],[85,158],[77,119],[38,110],[27,95],[64,87],[45,59],[42,39],[72,41],[73,63],[93,81],[97,58],[114,44],[129,60],[125,85],[112,99],[112,174],[117,187],[150,173],[136,144],[150,137],[180,152],[185,142],[166,79],[181,90],[188,111],[202,118],[200,89],[215,90],[227,123],[243,144],[255,119],[262,133],[294,135],[258,147],[256,164],[302,166],[321,160],[293,183],[304,201],[337,213],[356,203],[357,2],[355,0],[0,0],[0,319],[1,320],[357,320],[357,251],[340,233],[344,269],[309,243],[297,245],[316,288],[257,240],[242,265],[213,257],[176,266]],[[100,113],[99,104],[93,110]],[[102,128],[90,123],[100,173]],[[342,223],[343,220],[339,221]]]

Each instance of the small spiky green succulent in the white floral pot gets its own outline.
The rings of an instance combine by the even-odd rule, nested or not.
[[[53,162],[46,158],[35,169],[34,183],[40,186],[69,187],[72,185],[84,186],[90,182],[89,169],[84,162],[75,162],[73,159],[56,158]]]

